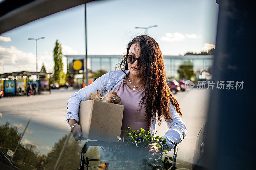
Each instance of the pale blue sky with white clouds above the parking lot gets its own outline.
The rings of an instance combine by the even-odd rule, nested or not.
[[[218,4],[215,0],[105,0],[86,4],[88,55],[123,55],[128,42],[148,29],[163,55],[201,52],[215,44]],[[84,5],[38,19],[0,35],[0,73],[53,71],[55,41],[63,55],[85,54]],[[67,70],[63,57],[64,72]]]

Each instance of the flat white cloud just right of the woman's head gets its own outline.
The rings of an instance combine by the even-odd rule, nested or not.
[[[175,32],[173,34],[166,33],[165,36],[160,38],[160,40],[168,41],[168,42],[175,42],[175,41],[183,41],[186,38],[196,39],[196,38],[201,38],[201,35],[196,35],[196,34],[183,35],[182,33],[178,33],[178,32]]]

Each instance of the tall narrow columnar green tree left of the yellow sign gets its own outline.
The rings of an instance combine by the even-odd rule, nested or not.
[[[53,80],[59,84],[65,83],[65,74],[63,71],[63,63],[62,63],[62,47],[59,44],[58,40],[55,42],[55,47],[53,49],[53,59],[54,59],[54,74]]]

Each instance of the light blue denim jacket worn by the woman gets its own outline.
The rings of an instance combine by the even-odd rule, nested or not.
[[[126,74],[129,73],[129,70],[123,70]],[[81,101],[88,100],[89,94],[97,92],[97,89],[100,91],[114,91],[115,88],[124,80],[126,74],[122,70],[120,71],[110,71],[107,74],[102,75],[100,78],[97,78],[92,84],[80,89],[78,92],[72,94],[67,103],[67,113],[66,113],[66,122],[69,123],[69,119],[75,119],[79,122],[78,112]],[[170,103],[170,115],[172,121],[166,121],[169,130],[163,136],[166,138],[168,151],[174,148],[175,144],[181,142],[185,137],[187,128],[182,121],[181,117],[175,110],[172,103]],[[150,123],[150,134],[155,134],[156,131],[156,119]]]

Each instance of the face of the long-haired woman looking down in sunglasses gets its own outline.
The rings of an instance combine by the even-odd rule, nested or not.
[[[128,55],[132,55],[136,58],[140,58],[140,46],[138,44],[132,44],[130,49],[129,49],[129,53]],[[128,70],[130,71],[130,74],[133,76],[140,76],[140,71],[141,71],[141,66],[138,63],[138,60],[135,60],[134,63],[130,64],[128,63]]]

